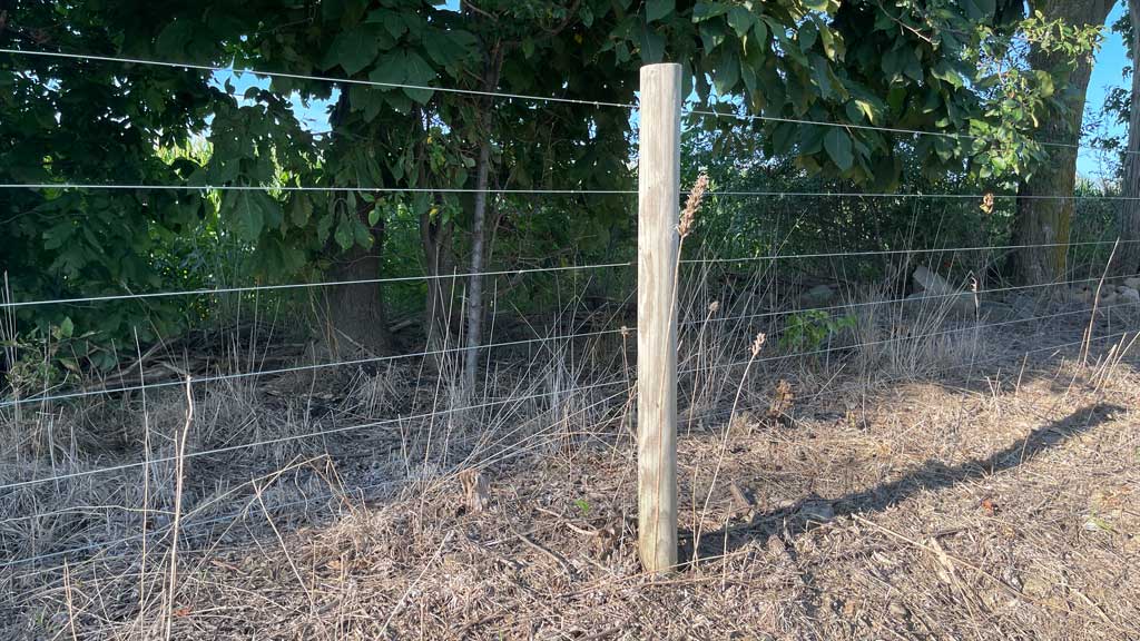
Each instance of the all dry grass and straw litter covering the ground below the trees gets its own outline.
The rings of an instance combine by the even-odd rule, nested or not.
[[[477,399],[450,363],[396,362],[202,386],[188,429],[178,386],[9,408],[0,485],[84,476],[0,490],[0,630],[1140,638],[1133,308],[1090,325],[1010,297],[1033,320],[980,327],[1003,320],[855,306],[819,354],[773,334],[742,379],[772,319],[712,298],[685,306],[674,575],[636,559],[635,341],[613,333],[499,355]]]

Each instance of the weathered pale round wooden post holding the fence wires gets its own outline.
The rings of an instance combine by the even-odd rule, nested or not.
[[[641,70],[637,168],[637,545],[642,565],[677,565],[677,214],[681,65]]]

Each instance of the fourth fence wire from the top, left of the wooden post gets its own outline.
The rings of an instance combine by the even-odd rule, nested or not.
[[[206,375],[206,376],[190,376],[189,381],[187,381],[186,379],[182,379],[180,381],[161,381],[161,382],[156,382],[156,383],[139,383],[137,386],[123,386],[123,387],[117,387],[117,388],[104,388],[104,389],[96,389],[96,390],[84,390],[84,391],[59,393],[59,395],[52,395],[52,396],[31,396],[31,397],[27,397],[27,398],[17,398],[17,399],[11,399],[11,400],[5,400],[5,401],[0,403],[0,409],[2,409],[5,407],[14,407],[14,406],[17,406],[17,405],[30,405],[30,404],[34,404],[34,403],[49,403],[49,401],[55,401],[55,400],[68,400],[68,399],[76,399],[76,398],[87,398],[87,397],[91,397],[91,396],[106,396],[106,395],[113,395],[113,393],[122,393],[122,392],[129,392],[129,391],[142,391],[142,390],[150,391],[150,390],[154,390],[154,389],[162,389],[162,388],[170,388],[170,387],[186,387],[187,382],[189,382],[190,384],[202,384],[202,383],[236,381],[236,380],[252,379],[252,378],[259,378],[259,376],[274,376],[274,375],[278,375],[278,374],[291,374],[291,373],[295,373],[295,372],[314,372],[314,371],[318,371],[318,370],[328,370],[328,368],[333,368],[333,367],[347,367],[347,366],[358,366],[358,365],[374,365],[374,364],[377,364],[377,363],[391,363],[393,360],[404,360],[404,359],[410,359],[410,358],[426,358],[429,356],[446,356],[446,355],[450,355],[450,354],[466,354],[466,352],[470,352],[470,351],[473,351],[473,350],[497,349],[497,348],[504,348],[504,347],[521,347],[521,346],[526,346],[526,344],[539,344],[539,343],[547,343],[547,342],[569,341],[569,340],[583,339],[583,338],[597,338],[597,336],[605,336],[605,335],[613,335],[613,334],[626,334],[626,333],[632,333],[632,332],[635,332],[635,331],[636,331],[636,327],[622,327],[622,328],[617,328],[617,330],[598,330],[596,332],[581,332],[581,333],[575,333],[575,334],[565,334],[565,335],[556,335],[556,336],[540,336],[540,338],[535,338],[535,339],[522,339],[522,340],[518,340],[518,341],[505,341],[505,342],[497,342],[497,343],[490,343],[490,344],[481,344],[481,346],[475,347],[475,348],[471,348],[471,347],[451,347],[451,348],[432,349],[432,350],[424,350],[424,351],[412,351],[412,352],[407,352],[407,354],[398,354],[398,355],[392,355],[392,356],[370,356],[368,358],[353,358],[351,360],[336,360],[336,362],[333,362],[333,363],[315,363],[315,364],[311,364],[311,365],[296,365],[296,366],[293,366],[293,367],[278,367],[278,368],[274,368],[274,370],[259,370],[256,372],[237,372],[237,373],[234,373],[234,374],[217,374],[217,375]]]

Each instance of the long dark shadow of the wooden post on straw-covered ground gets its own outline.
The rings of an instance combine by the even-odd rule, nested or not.
[[[756,514],[744,524],[728,525],[703,533],[700,539],[700,555],[717,557],[752,541],[766,541],[772,535],[785,539],[792,538],[841,516],[881,512],[923,490],[946,489],[971,479],[1017,468],[1045,451],[1112,420],[1113,414],[1117,412],[1124,412],[1124,408],[1106,403],[1089,405],[1033,430],[1025,438],[985,459],[975,459],[960,465],[947,465],[938,460],[929,460],[899,479],[838,498],[805,496],[791,505]],[[681,533],[681,559],[693,558],[692,539],[692,533]]]

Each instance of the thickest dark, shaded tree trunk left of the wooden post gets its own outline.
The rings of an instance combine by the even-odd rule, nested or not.
[[[351,195],[348,197],[352,198]],[[357,216],[367,221],[373,205],[363,203]],[[367,222],[366,222],[367,224]],[[334,248],[328,275],[333,281],[366,281],[380,277],[383,265],[384,220],[381,218],[372,232],[372,248],[355,245],[347,252]],[[383,290],[378,283],[356,283],[325,287],[325,320],[328,344],[335,354],[343,343],[374,354],[389,350],[388,320],[384,314]],[[352,349],[350,349],[352,351]]]

